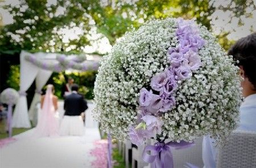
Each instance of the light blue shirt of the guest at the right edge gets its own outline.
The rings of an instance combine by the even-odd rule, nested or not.
[[[256,94],[247,96],[240,106],[240,126],[237,130],[256,132]],[[203,139],[203,162],[204,168],[215,168],[217,149],[214,140],[209,136]]]

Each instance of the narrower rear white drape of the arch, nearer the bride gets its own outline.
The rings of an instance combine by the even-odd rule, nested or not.
[[[52,71],[47,70],[39,70],[38,75],[36,75],[36,91],[41,91],[43,86],[47,83],[49,77],[52,75]],[[30,120],[36,119],[34,115],[36,115],[36,104],[40,102],[40,93],[35,92],[34,98],[30,105],[30,110],[28,110],[28,115],[30,117]],[[35,120],[33,122],[36,122]]]

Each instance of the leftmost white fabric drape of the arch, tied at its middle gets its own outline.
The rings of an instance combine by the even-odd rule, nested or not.
[[[26,51],[20,53],[20,91],[26,92],[30,85],[33,83],[39,68],[34,64],[27,62],[24,56],[30,54]],[[27,111],[27,97],[24,95],[19,96],[13,114],[13,127],[16,128],[30,128],[30,120]]]

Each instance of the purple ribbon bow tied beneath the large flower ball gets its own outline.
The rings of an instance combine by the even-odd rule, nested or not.
[[[186,141],[170,141],[169,143],[155,143],[155,145],[148,145],[143,153],[142,159],[147,163],[151,163],[151,168],[173,168],[174,158],[172,157],[171,148],[184,149],[192,147],[194,143],[187,143]],[[148,154],[150,152],[150,154]]]

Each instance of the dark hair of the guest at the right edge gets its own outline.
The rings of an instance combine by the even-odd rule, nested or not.
[[[233,55],[234,61],[239,61],[237,66],[242,66],[245,76],[256,89],[256,33],[243,37],[228,51]]]

